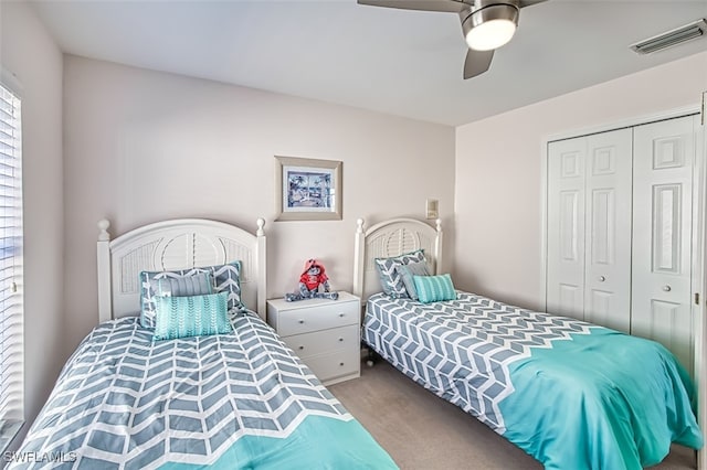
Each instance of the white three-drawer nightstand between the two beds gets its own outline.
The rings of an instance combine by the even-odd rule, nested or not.
[[[267,322],[325,385],[361,375],[360,319],[361,301],[348,292],[267,301]]]

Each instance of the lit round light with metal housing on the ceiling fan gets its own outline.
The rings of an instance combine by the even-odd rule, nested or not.
[[[516,33],[518,9],[510,4],[493,4],[474,11],[462,28],[466,44],[475,51],[492,51],[506,44]]]

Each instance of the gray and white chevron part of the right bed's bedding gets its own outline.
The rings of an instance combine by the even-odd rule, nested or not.
[[[530,346],[548,348],[589,327],[467,292],[434,303],[377,293],[368,300],[362,339],[415,382],[504,434],[498,405],[514,392],[508,364],[529,355]]]

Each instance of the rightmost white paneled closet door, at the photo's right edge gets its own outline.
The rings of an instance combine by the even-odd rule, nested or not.
[[[693,371],[692,202],[697,117],[634,130],[632,333]]]

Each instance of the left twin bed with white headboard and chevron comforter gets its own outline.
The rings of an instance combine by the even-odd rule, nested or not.
[[[253,235],[179,220],[110,241],[103,221],[101,323],[71,356],[32,425],[18,453],[30,460],[11,467],[397,468],[261,317],[263,226],[258,221]],[[140,273],[169,271],[182,282],[200,266],[213,268],[217,296],[240,301],[229,310],[232,331],[156,340],[162,317],[152,330],[138,316],[140,298],[155,287]],[[239,275],[224,276],[233,266]]]

